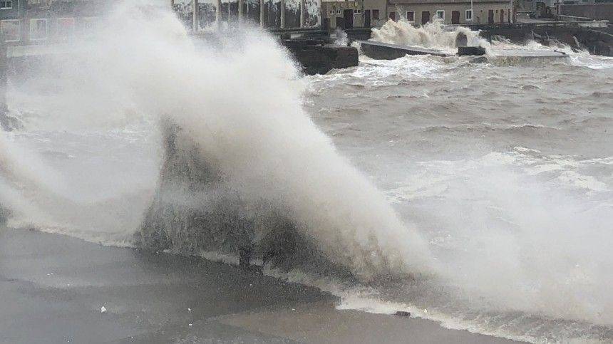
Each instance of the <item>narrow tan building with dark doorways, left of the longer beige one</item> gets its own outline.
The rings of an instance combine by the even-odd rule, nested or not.
[[[321,1],[324,28],[370,28],[386,21],[386,0]]]

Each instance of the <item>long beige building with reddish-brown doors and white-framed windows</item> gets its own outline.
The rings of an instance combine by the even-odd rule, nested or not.
[[[443,24],[508,24],[510,0],[388,0],[388,18],[416,26],[439,20]]]

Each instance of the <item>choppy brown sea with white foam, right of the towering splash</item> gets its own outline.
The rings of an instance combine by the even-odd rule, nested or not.
[[[445,270],[335,286],[341,307],[534,342],[613,340],[612,66],[584,53],[546,66],[406,56],[311,77],[309,113]]]

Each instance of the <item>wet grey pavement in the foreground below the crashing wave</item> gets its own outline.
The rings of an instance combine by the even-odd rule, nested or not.
[[[0,229],[0,343],[511,343],[335,302],[197,257]]]

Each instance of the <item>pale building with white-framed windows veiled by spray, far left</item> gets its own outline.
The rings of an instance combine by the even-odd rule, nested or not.
[[[109,0],[0,0],[1,39],[11,45],[87,36]]]

